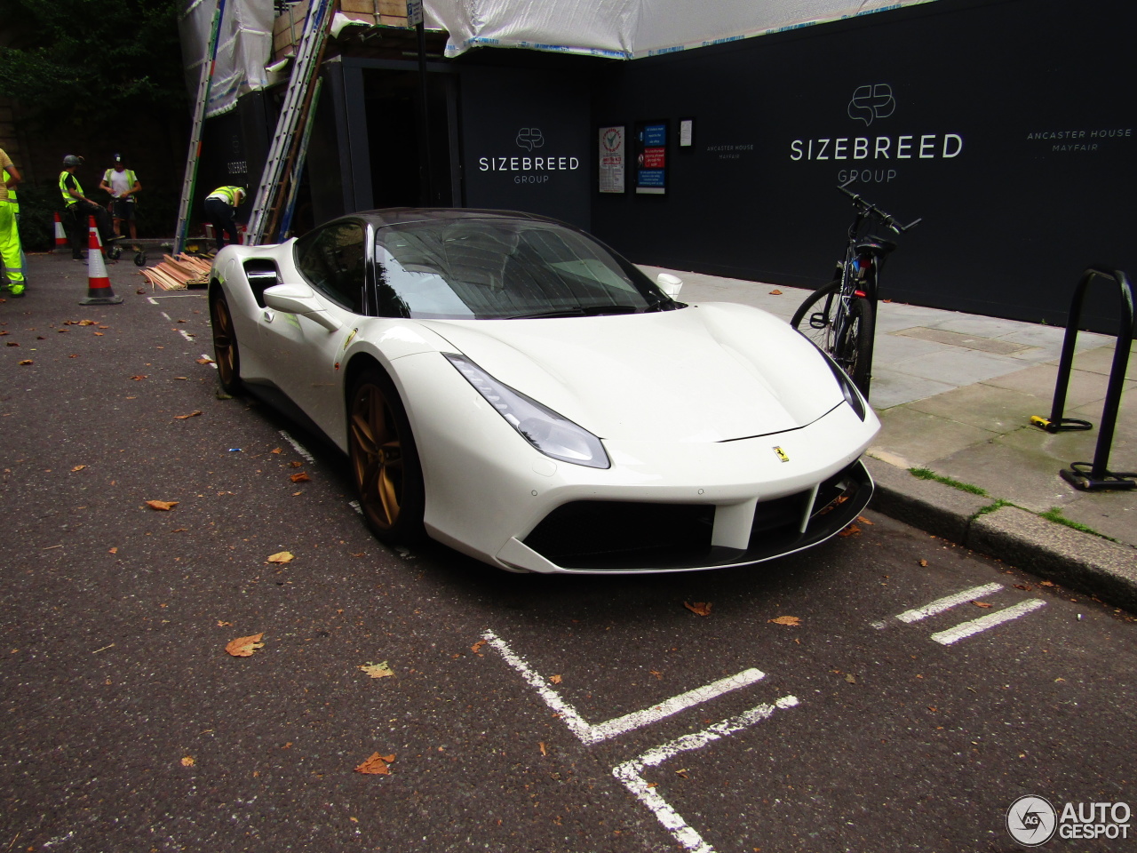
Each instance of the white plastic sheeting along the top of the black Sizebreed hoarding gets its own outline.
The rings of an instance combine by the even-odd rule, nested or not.
[[[528,48],[616,59],[670,53],[932,0],[424,0],[447,56]]]

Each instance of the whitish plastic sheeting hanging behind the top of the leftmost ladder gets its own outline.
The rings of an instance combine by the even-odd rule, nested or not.
[[[191,93],[198,91],[201,67],[209,61],[206,53],[216,9],[217,0],[188,0],[182,10],[182,58]],[[268,85],[265,65],[273,52],[274,17],[273,3],[267,0],[225,0],[207,117],[232,109],[246,92]]]

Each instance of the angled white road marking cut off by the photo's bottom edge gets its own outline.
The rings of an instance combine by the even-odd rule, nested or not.
[[[683,818],[677,812],[666,800],[657,793],[654,787],[648,787],[644,780],[645,768],[657,767],[667,759],[674,757],[681,752],[700,750],[707,744],[733,735],[745,728],[754,726],[769,719],[778,709],[794,707],[798,704],[796,696],[782,696],[774,704],[755,705],[749,711],[716,722],[703,731],[694,735],[683,735],[662,746],[653,747],[638,759],[625,761],[612,768],[612,775],[624,784],[637,800],[652,810],[656,819],[671,833],[677,842],[694,853],[713,853],[714,847],[703,840],[700,836]]]

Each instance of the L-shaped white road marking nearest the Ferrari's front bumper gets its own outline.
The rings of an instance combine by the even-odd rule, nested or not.
[[[485,631],[482,635],[482,638],[498,651],[501,657],[505,659],[506,663],[521,673],[521,677],[537,690],[538,695],[542,699],[545,699],[545,704],[561,714],[561,721],[568,727],[568,730],[586,744],[597,744],[601,740],[607,740],[608,738],[616,737],[625,731],[631,731],[632,729],[638,729],[641,726],[656,722],[666,717],[671,717],[672,714],[677,714],[684,709],[691,707],[692,705],[698,705],[703,702],[707,702],[708,699],[713,699],[716,696],[722,696],[724,693],[730,693],[739,687],[753,685],[755,681],[765,678],[765,673],[760,670],[744,670],[737,676],[721,678],[717,681],[712,681],[703,687],[696,687],[694,690],[688,690],[679,696],[673,696],[665,702],[661,702],[658,705],[653,705],[652,707],[642,711],[634,711],[630,714],[624,714],[623,717],[616,717],[607,722],[600,722],[594,726],[581,717],[576,709],[561,698],[561,695],[549,687],[546,679],[534,671],[523,657],[509,648],[508,644],[493,633],[493,631]]]

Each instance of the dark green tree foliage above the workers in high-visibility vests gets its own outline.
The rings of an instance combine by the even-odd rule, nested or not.
[[[0,96],[52,125],[184,109],[176,0],[7,0]]]

